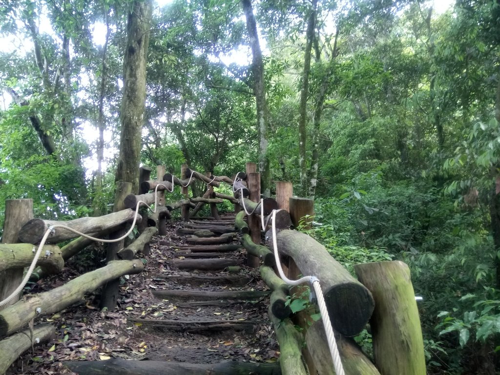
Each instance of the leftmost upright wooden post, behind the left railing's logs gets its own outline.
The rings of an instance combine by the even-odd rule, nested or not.
[[[19,229],[32,218],[33,199],[5,200],[5,221],[3,222],[1,243],[18,243]],[[0,300],[8,297],[19,286],[23,270],[23,267],[19,267],[0,272]],[[17,302],[18,299],[19,296],[12,299],[10,304]]]

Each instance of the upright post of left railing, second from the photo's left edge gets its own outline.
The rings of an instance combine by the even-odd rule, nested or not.
[[[123,201],[125,196],[132,193],[132,183],[126,181],[116,181],[116,189],[114,193],[114,205],[113,212],[120,211],[124,208]],[[109,239],[115,239],[121,237],[126,233],[127,228],[120,228],[115,232],[109,234]],[[117,242],[111,242],[107,245],[106,251],[106,263],[109,263],[111,260],[118,259],[119,250],[123,248],[124,241],[123,239]],[[106,307],[108,310],[112,310],[116,307],[116,301],[118,300],[118,291],[119,291],[119,278],[108,281],[102,287],[102,293],[100,295],[100,307]]]

